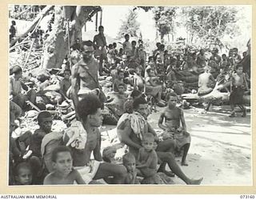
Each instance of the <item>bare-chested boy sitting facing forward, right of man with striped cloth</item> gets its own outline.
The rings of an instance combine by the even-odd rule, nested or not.
[[[186,163],[186,155],[190,149],[190,134],[186,132],[186,122],[183,114],[183,110],[176,106],[178,97],[174,93],[166,95],[166,101],[168,106],[166,110],[160,115],[158,120],[158,126],[164,130],[163,139],[174,140],[174,148],[181,149],[183,147],[184,152],[182,155],[182,166],[188,166]],[[165,119],[165,125],[162,124]],[[182,127],[180,126],[182,122]]]

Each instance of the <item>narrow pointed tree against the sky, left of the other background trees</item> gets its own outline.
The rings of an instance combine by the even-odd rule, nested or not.
[[[139,37],[140,24],[137,22],[138,14],[133,10],[129,10],[129,14],[125,20],[122,20],[122,26],[119,29],[117,38],[124,38],[125,34],[130,34],[130,37]]]

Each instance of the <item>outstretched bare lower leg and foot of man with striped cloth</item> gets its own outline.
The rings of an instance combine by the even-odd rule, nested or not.
[[[181,178],[182,181],[186,182],[187,185],[199,185],[202,182],[202,178],[199,179],[190,179],[182,172],[182,169],[178,166],[174,159],[174,154],[171,154],[170,152],[157,152],[158,157],[163,161],[167,162],[168,166],[170,167],[170,170],[174,172],[178,176],[178,178]]]

